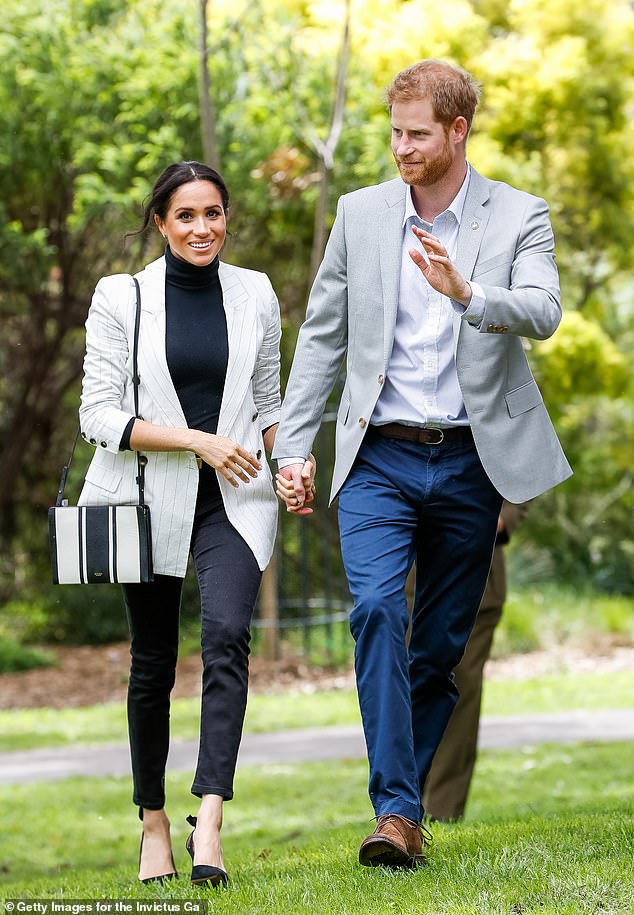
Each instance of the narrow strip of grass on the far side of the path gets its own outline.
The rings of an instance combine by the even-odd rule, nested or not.
[[[529,680],[489,680],[485,715],[523,715],[573,709],[634,708],[634,671],[548,674]],[[178,699],[172,708],[174,738],[198,733],[198,699]],[[246,731],[355,724],[360,721],[354,690],[252,694]],[[122,703],[74,709],[0,711],[0,752],[39,746],[124,741]]]

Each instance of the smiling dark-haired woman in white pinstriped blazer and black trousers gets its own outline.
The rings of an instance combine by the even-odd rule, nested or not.
[[[154,222],[165,255],[138,275],[139,416],[134,415],[136,309],[128,275],[99,281],[86,322],[80,422],[97,451],[80,504],[136,501],[136,455],[148,459],[154,581],[123,585],[131,634],[128,730],[143,833],[139,879],[176,874],[165,806],[170,692],[181,588],[191,551],[202,610],[202,709],[187,840],[192,883],[224,885],[222,804],[246,707],[250,621],[273,549],[277,506],[263,448],[280,407],[280,316],[264,274],[219,261],[229,195],[198,162],[158,178],[141,231]],[[306,463],[306,485],[312,465]],[[309,492],[310,499],[310,492]]]

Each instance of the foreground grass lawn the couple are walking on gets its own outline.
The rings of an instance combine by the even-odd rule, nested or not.
[[[183,843],[189,779],[168,778],[182,874],[135,880],[140,824],[128,778],[0,789],[4,898],[208,899],[230,915],[624,915],[632,912],[630,744],[482,753],[468,817],[434,827],[416,872],[361,868],[372,829],[362,762],[243,769],[226,806],[226,891],[193,889]]]

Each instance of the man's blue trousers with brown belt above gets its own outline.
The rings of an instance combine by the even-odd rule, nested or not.
[[[372,430],[339,494],[377,816],[424,816],[423,786],[458,698],[452,671],[484,593],[501,504],[472,442],[422,445]]]

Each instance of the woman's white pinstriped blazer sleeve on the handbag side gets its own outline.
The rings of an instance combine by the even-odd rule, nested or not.
[[[118,452],[121,437],[134,413],[122,407],[132,383],[126,324],[133,292],[125,274],[99,280],[86,320],[86,355],[79,423],[82,436],[92,445]]]

